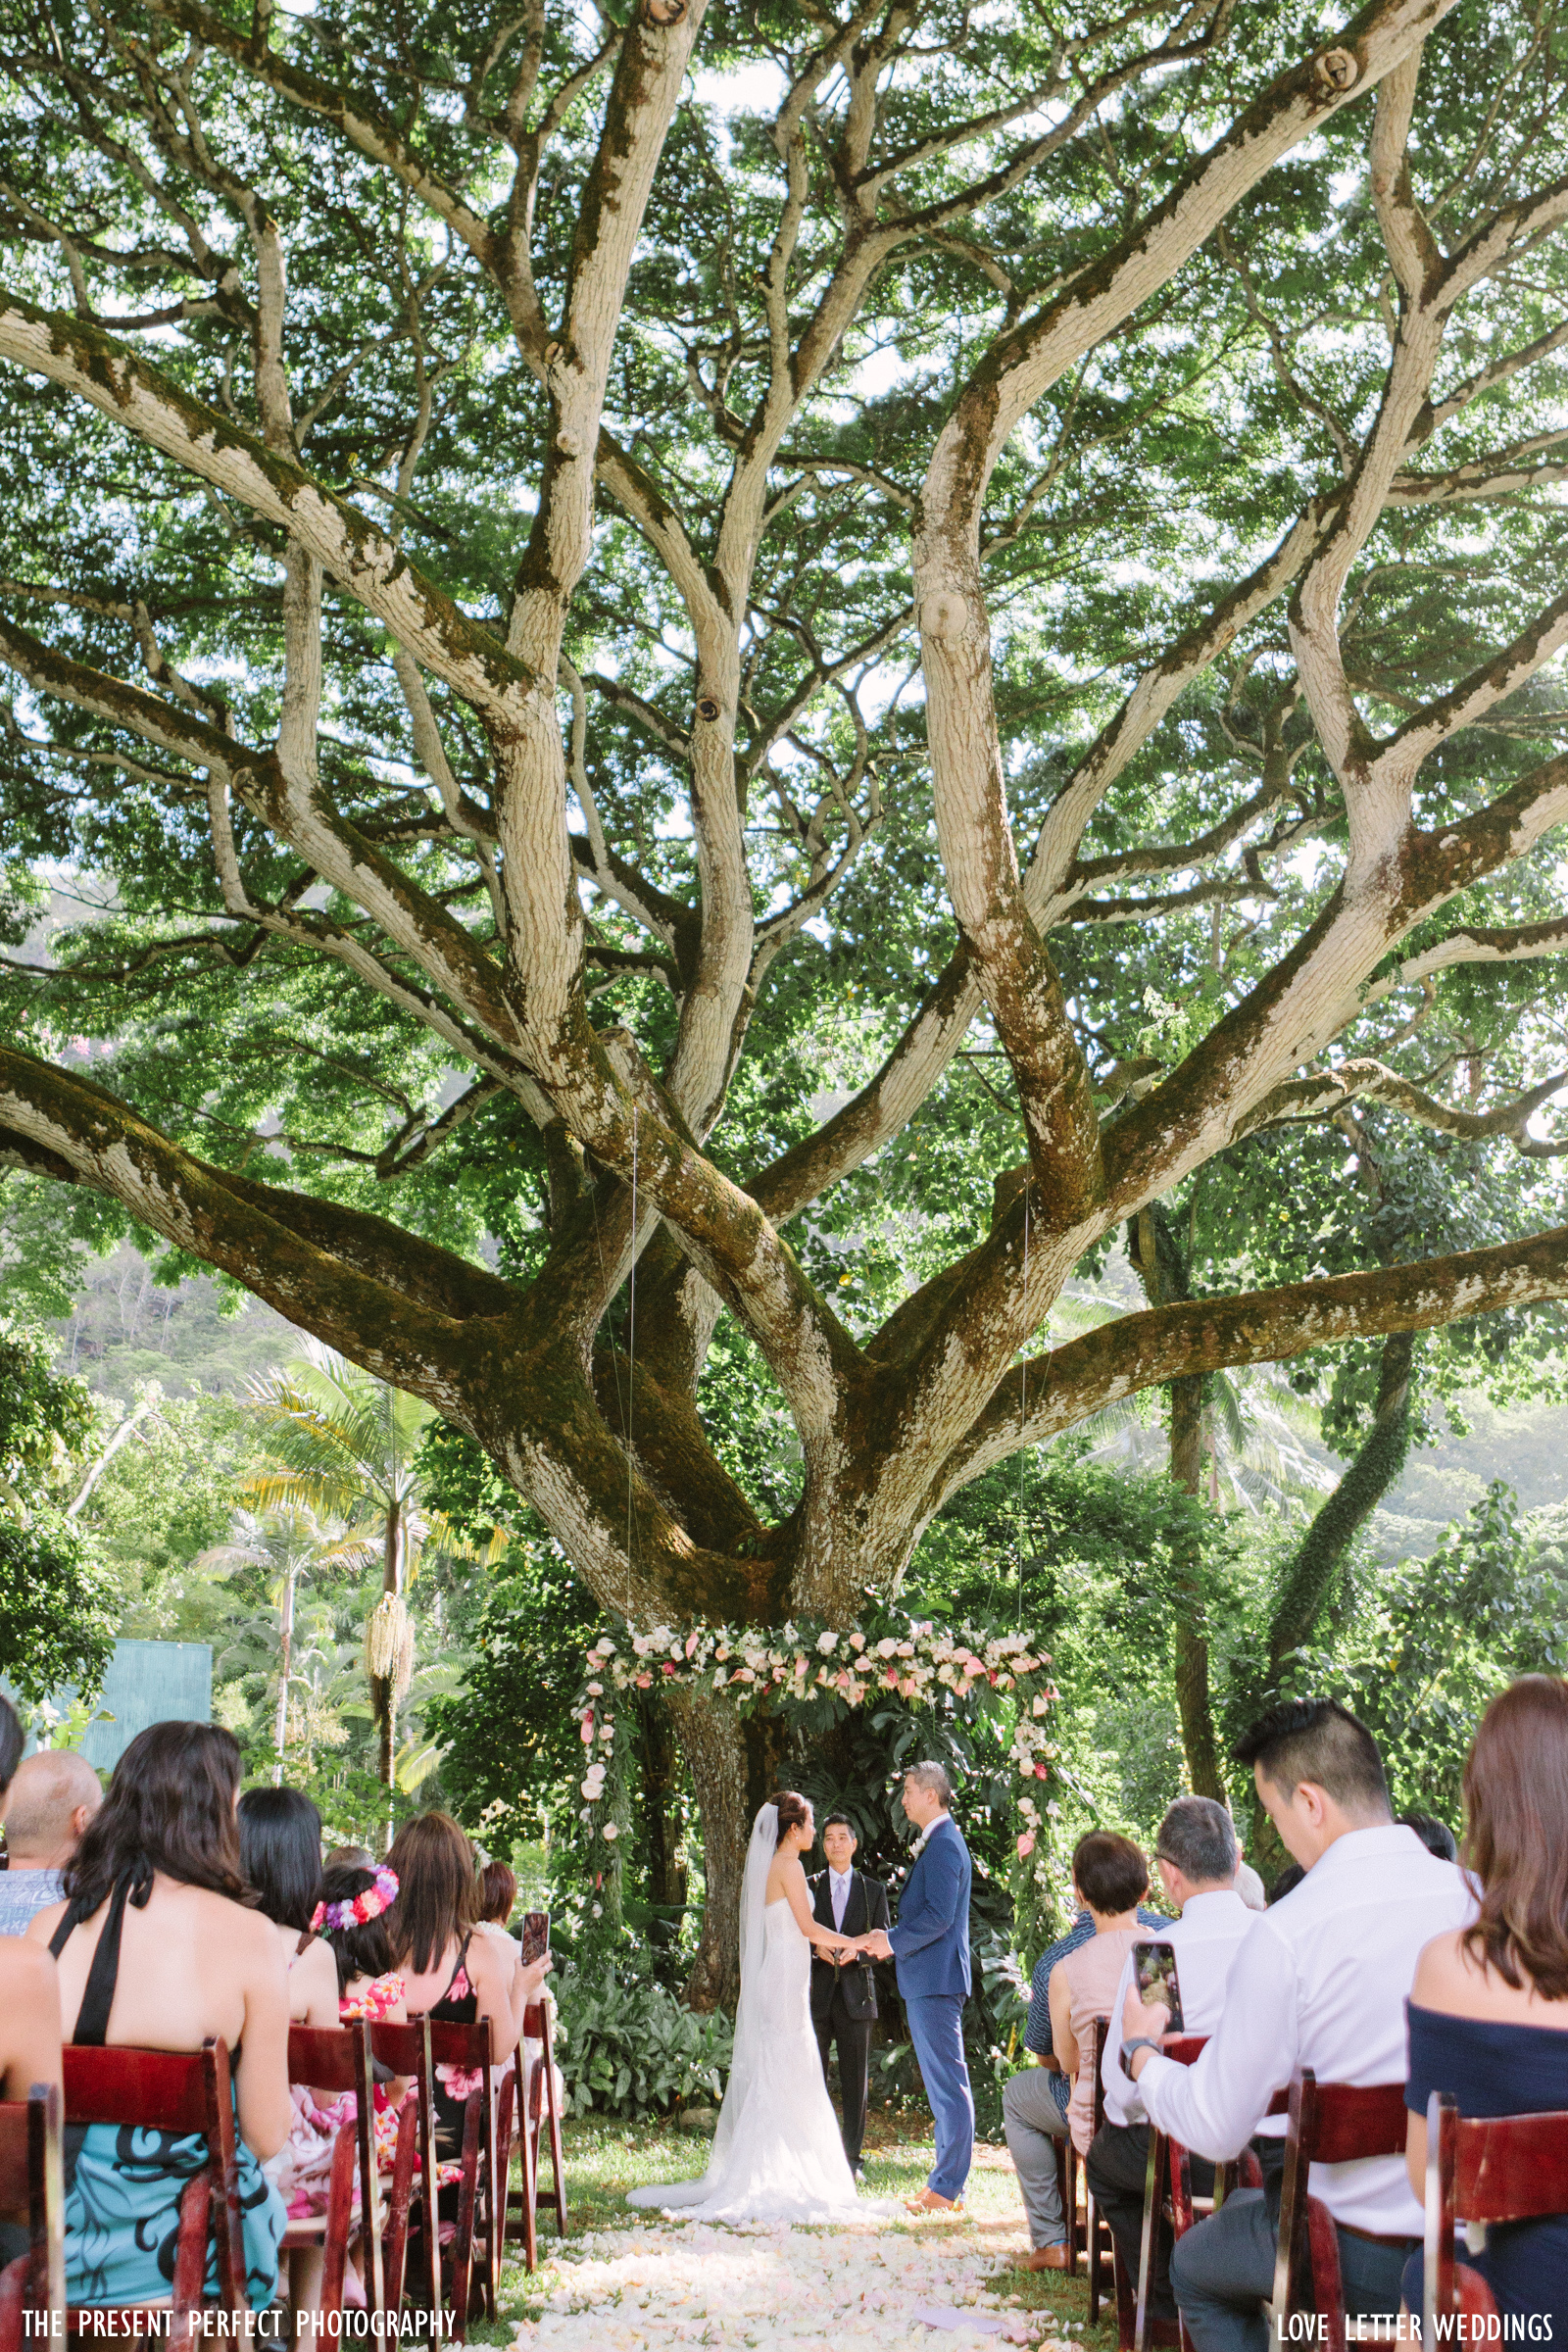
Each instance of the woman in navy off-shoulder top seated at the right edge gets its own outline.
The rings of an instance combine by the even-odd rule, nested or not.
[[[1410,2126],[1406,2169],[1427,2194],[1427,2100],[1453,2091],[1460,2114],[1568,2107],[1568,1684],[1526,1675],[1481,1717],[1465,1764],[1465,1860],[1481,1915],[1439,1936],[1410,1985]],[[1462,2263],[1481,2272],[1502,2326],[1544,2319],[1568,2333],[1568,2213],[1486,2232]],[[1420,2256],[1406,2307],[1420,2312]],[[1521,2331],[1537,2336],[1537,2328]]]

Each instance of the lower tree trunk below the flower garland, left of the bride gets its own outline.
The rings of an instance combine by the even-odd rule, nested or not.
[[[741,1877],[757,1806],[778,1788],[785,1726],[771,1717],[738,1717],[719,1698],[670,1693],[696,1802],[703,1813],[703,1936],[696,1947],[686,2002],[691,2009],[731,2009],[741,1994]]]

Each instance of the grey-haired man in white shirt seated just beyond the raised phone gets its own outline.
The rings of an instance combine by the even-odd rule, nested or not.
[[[1253,1924],[1251,1907],[1237,1889],[1237,1832],[1229,1813],[1213,1797],[1178,1797],[1159,1825],[1154,1860],[1166,1896],[1180,1910],[1175,1926],[1159,1943],[1175,1952],[1182,1987],[1182,2027],[1211,2034],[1225,2006],[1225,1978],[1237,1945]],[[1143,2251],[1143,2185],[1150,2161],[1150,2126],[1138,2100],[1138,2086],[1121,2070],[1121,2009],[1133,1983],[1128,1952],[1117,1980],[1105,2037],[1105,2124],[1088,2150],[1088,2187],[1110,2223],[1131,2279],[1138,2277]],[[1213,2166],[1192,2159],[1192,2190],[1208,2197]],[[1161,2220],[1154,2251],[1152,2310],[1157,2319],[1175,2319],[1171,2296],[1171,2227]]]

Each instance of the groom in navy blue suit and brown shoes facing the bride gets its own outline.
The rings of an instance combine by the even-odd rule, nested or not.
[[[903,1778],[903,1809],[919,1839],[898,1900],[898,1926],[860,1938],[872,1959],[898,1962],[898,1997],[936,2119],[936,2164],[910,2213],[961,2211],[976,2152],[976,2100],[964,2063],[971,1867],[950,1804],[952,1783],[943,1766],[912,1764]]]

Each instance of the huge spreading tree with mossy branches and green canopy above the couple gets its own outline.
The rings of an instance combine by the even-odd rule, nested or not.
[[[1244,1138],[1554,1148],[1540,967],[1479,1063],[1420,1011],[1568,948],[1563,38],[0,0],[7,1164],[644,1625],[844,1623],[1117,1397],[1568,1294],[1544,1185],[1218,1298],[1150,1216],[1039,1338]],[[769,1755],[677,1731],[715,1999]]]

